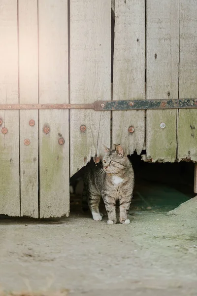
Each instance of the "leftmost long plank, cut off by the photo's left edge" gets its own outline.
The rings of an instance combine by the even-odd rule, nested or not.
[[[17,0],[0,0],[0,104],[18,104],[17,37]],[[0,118],[0,214],[20,216],[19,111],[0,111]]]

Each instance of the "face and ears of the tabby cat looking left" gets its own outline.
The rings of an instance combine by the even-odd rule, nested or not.
[[[125,153],[121,145],[116,146],[114,150],[105,147],[106,154],[102,159],[103,170],[107,174],[118,175],[124,169]]]

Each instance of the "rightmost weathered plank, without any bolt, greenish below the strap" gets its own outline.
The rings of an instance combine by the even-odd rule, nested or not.
[[[197,97],[197,1],[180,0],[179,98]],[[197,110],[179,110],[178,160],[197,161]]]

